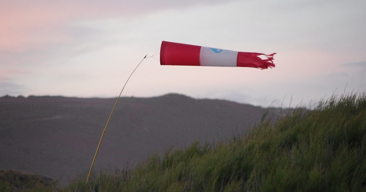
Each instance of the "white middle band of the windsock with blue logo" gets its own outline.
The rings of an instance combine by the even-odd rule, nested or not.
[[[238,51],[201,47],[199,52],[200,66],[236,67]]]

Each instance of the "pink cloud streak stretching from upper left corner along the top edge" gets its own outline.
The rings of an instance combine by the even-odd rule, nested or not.
[[[217,3],[219,0],[202,1]],[[201,2],[201,3],[202,3]],[[63,30],[68,23],[182,8],[197,1],[8,1],[0,2],[0,51],[23,52],[71,41]]]

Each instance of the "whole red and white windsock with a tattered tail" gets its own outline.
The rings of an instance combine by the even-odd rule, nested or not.
[[[163,41],[160,48],[160,64],[267,69],[275,67],[272,61],[275,54],[238,52]],[[261,55],[265,56],[266,59],[258,57]]]

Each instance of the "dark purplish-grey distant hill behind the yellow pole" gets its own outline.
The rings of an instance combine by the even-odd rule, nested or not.
[[[116,98],[0,97],[0,169],[68,182],[85,176]],[[214,143],[242,134],[265,108],[168,94],[123,97],[109,122],[94,170],[136,165],[153,152]]]

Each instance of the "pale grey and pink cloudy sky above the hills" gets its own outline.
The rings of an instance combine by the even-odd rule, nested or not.
[[[309,106],[366,91],[365,0],[0,2],[0,96]],[[161,66],[161,41],[274,56],[275,68]]]

